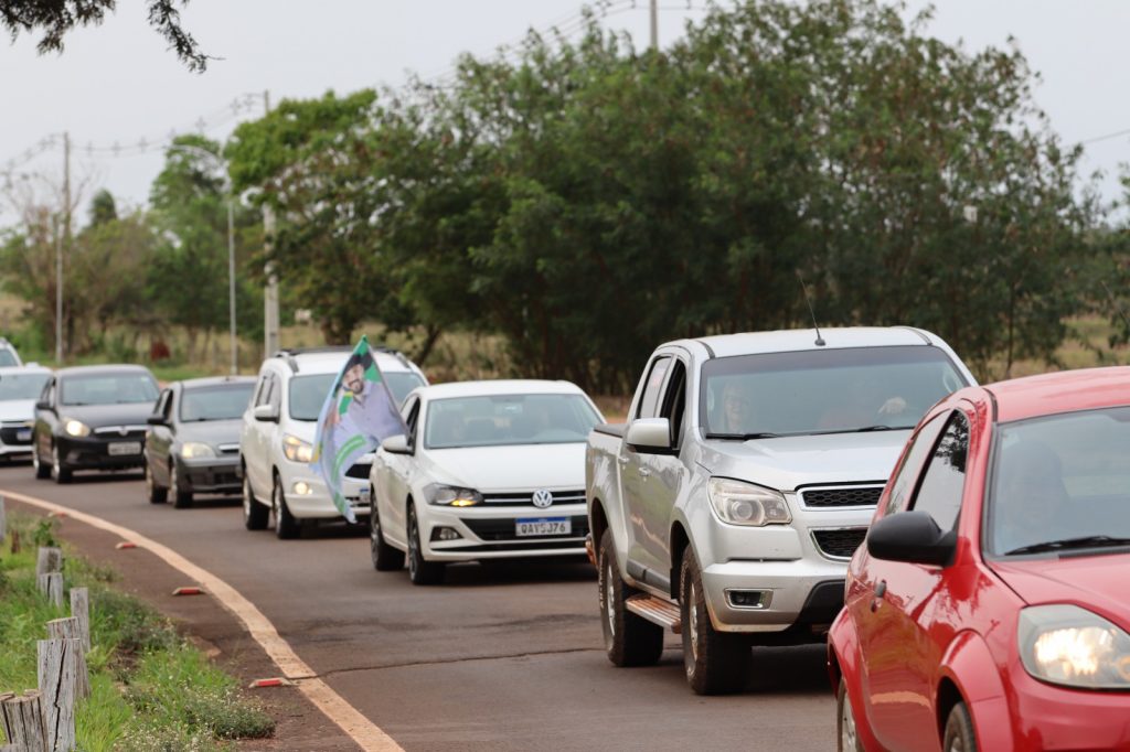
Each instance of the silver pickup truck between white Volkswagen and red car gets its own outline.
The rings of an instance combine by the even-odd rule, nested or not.
[[[608,657],[655,663],[683,636],[701,694],[741,689],[753,645],[825,639],[911,429],[973,384],[909,327],[680,340],[652,355],[625,425],[585,457]]]

